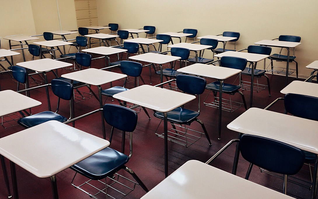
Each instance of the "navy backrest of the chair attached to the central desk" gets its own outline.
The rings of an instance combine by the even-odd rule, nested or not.
[[[176,84],[180,90],[192,95],[201,95],[206,86],[206,80],[192,75],[177,75]]]

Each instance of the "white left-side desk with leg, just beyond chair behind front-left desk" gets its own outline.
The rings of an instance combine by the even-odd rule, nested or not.
[[[56,41],[59,41],[59,40],[56,40]],[[54,69],[69,67],[69,66],[72,66],[73,64],[59,61],[59,60],[52,60],[52,59],[45,58],[40,60],[20,62],[20,63],[17,63],[17,65],[23,68],[28,68],[28,69],[43,73],[45,84],[47,84],[47,77],[46,77],[47,71],[51,71],[51,70],[53,71]],[[57,77],[57,74],[54,73],[54,75]],[[49,108],[49,111],[51,111],[49,89],[47,86],[45,87],[45,89],[46,89],[48,108]]]

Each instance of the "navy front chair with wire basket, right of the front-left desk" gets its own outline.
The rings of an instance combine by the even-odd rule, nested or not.
[[[70,168],[73,169],[76,174],[79,173],[90,180],[101,180],[110,176],[117,175],[116,172],[118,172],[121,169],[124,169],[127,171],[130,175],[133,176],[133,178],[137,181],[135,184],[139,184],[146,192],[148,192],[147,187],[144,185],[144,183],[139,179],[139,177],[128,167],[125,166],[125,164],[129,161],[130,157],[132,156],[132,131],[135,130],[137,125],[137,114],[134,110],[130,110],[126,107],[115,105],[115,104],[105,104],[103,106],[103,113],[104,113],[104,119],[107,122],[107,124],[112,126],[112,130],[110,133],[110,139],[109,142],[112,141],[114,128],[120,130],[120,131],[128,131],[130,132],[130,153],[129,156],[125,155],[124,153],[120,153],[110,147],[107,147],[90,157],[80,161],[79,163],[76,163],[75,165],[71,166]],[[115,131],[116,132],[116,131]],[[88,193],[87,191],[80,188],[81,185],[77,186],[73,183],[76,174],[72,180],[72,185],[75,188],[78,188],[79,190],[85,192],[90,197],[96,198],[95,195],[92,195],[91,193]],[[90,181],[89,180],[89,181]],[[112,180],[115,180],[112,178]],[[100,181],[101,182],[101,181]],[[88,184],[89,182],[84,182],[81,184]],[[102,193],[107,194],[107,188],[112,188],[110,185],[103,183],[104,189],[102,189]],[[100,190],[99,190],[100,191]]]

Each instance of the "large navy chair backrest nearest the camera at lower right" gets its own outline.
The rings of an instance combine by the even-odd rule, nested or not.
[[[297,174],[305,160],[301,149],[254,135],[243,135],[239,149],[245,160],[279,174]]]

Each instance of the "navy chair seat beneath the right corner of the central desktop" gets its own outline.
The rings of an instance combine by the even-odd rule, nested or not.
[[[199,112],[194,110],[185,109],[178,107],[174,110],[167,112],[168,121],[177,124],[188,124],[190,125],[200,115]],[[155,112],[155,117],[164,119],[162,112]]]

